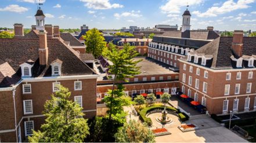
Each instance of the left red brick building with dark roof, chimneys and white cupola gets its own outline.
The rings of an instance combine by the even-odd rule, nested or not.
[[[98,74],[64,42],[58,27],[44,27],[41,9],[36,18],[37,26],[28,35],[24,36],[22,24],[15,24],[15,39],[0,39],[2,142],[24,141],[32,129],[39,129],[45,101],[58,85],[71,91],[70,100],[83,107],[85,118],[96,115]]]

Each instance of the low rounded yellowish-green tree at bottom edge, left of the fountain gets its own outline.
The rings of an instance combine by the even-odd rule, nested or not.
[[[116,142],[155,142],[154,134],[146,123],[129,121],[115,134]]]

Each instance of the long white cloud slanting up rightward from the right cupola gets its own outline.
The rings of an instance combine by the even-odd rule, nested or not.
[[[238,0],[234,2],[233,0],[228,0],[222,4],[222,6],[212,6],[206,12],[194,11],[193,14],[196,14],[198,17],[216,17],[219,14],[232,12],[237,9],[247,9],[250,7],[248,4],[253,3],[255,0]]]

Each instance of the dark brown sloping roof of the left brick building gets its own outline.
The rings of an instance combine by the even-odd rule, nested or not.
[[[39,39],[0,39],[1,58],[0,64],[8,62],[17,76],[21,76],[20,65],[28,60],[35,61],[32,69],[32,77],[51,76],[51,65],[53,61],[62,61],[61,76],[77,76],[95,74],[84,62],[73,48],[66,46],[61,39],[48,40],[48,65],[39,65]]]

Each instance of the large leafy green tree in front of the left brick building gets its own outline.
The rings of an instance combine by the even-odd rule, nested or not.
[[[82,142],[89,134],[87,120],[82,118],[82,107],[69,100],[71,92],[60,86],[60,91],[46,101],[45,124],[41,131],[33,131],[29,142]]]

